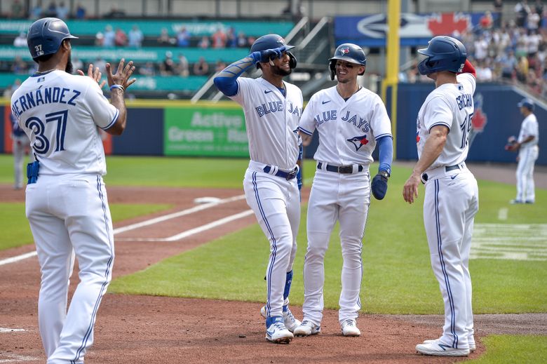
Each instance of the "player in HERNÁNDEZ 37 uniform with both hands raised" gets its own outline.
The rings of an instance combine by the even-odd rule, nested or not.
[[[114,236],[102,175],[104,150],[97,126],[119,135],[126,127],[123,91],[135,79],[133,62],[107,64],[111,102],[101,74],[72,72],[65,22],[43,18],[27,34],[38,71],[11,97],[11,110],[29,136],[36,157],[27,167],[26,214],[41,267],[39,328],[47,363],[83,363],[93,325],[112,277]],[[78,284],[67,311],[69,278],[79,263]]]

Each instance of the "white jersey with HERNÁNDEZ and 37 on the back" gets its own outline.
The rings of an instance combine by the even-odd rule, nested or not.
[[[90,77],[60,70],[31,76],[13,93],[11,110],[29,135],[40,175],[107,173],[97,126],[113,126],[119,111]]]

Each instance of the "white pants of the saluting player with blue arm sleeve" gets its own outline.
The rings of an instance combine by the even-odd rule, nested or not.
[[[243,189],[250,208],[270,243],[266,268],[266,315],[283,316],[283,291],[287,272],[292,271],[300,224],[300,194],[297,180],[265,173],[264,164],[251,161]]]

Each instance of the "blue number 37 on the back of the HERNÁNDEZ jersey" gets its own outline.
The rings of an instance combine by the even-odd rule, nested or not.
[[[68,110],[63,110],[62,112],[52,112],[51,114],[46,114],[46,123],[44,124],[41,119],[36,116],[32,116],[27,121],[25,121],[25,126],[32,130],[34,136],[36,137],[36,142],[32,146],[34,151],[38,154],[46,154],[49,151],[50,141],[44,135],[46,131],[46,126],[48,123],[57,121],[57,130],[55,133],[55,151],[65,150],[65,133],[67,131],[67,118]],[[52,125],[52,124],[50,124]]]

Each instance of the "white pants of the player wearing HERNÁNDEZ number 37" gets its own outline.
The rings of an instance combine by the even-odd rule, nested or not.
[[[112,278],[114,235],[107,192],[97,175],[39,175],[26,191],[41,267],[38,318],[47,363],[83,363]],[[74,255],[80,283],[67,312]]]

